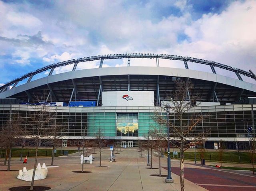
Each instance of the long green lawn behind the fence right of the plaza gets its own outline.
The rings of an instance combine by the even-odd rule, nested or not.
[[[167,156],[167,153],[166,153]],[[180,157],[180,152],[178,152],[178,156]],[[223,162],[231,162],[231,163],[240,163],[241,158],[241,163],[251,163],[250,156],[246,152],[224,152],[222,161]],[[172,152],[171,152],[171,157],[172,157]],[[174,156],[174,158],[177,158],[177,156]],[[184,152],[184,158],[188,160],[194,160],[195,158],[195,153],[194,152]],[[196,159],[200,160],[200,153],[196,152]],[[205,161],[220,161],[218,152],[206,152],[204,153],[204,159]]]

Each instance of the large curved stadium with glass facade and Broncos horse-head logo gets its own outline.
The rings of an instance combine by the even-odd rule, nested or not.
[[[155,59],[156,65],[130,66],[131,59],[142,58]],[[108,59],[127,59],[127,66],[102,67]],[[184,67],[160,67],[162,59],[180,61]],[[100,61],[98,68],[76,70],[78,63],[96,60]],[[212,73],[189,69],[190,63],[206,65]],[[73,65],[72,71],[53,75],[54,69],[66,65]],[[234,73],[237,79],[217,74],[216,68]],[[32,80],[46,71],[48,76]],[[138,140],[152,126],[158,126],[152,116],[162,102],[168,101],[168,95],[178,91],[176,81],[190,79],[194,88],[187,99],[200,95],[195,110],[210,116],[200,126],[200,130],[211,129],[205,147],[214,148],[214,143],[223,140],[227,149],[244,149],[255,134],[256,85],[244,81],[243,76],[256,80],[251,70],[178,55],[125,53],[72,59],[37,69],[0,87],[0,125],[8,120],[10,111],[30,118],[36,107],[32,103],[47,103],[56,108],[56,121],[65,125],[63,146],[79,146],[82,127],[86,126],[88,139],[100,129],[110,143],[137,147]],[[18,85],[24,80],[26,83]]]

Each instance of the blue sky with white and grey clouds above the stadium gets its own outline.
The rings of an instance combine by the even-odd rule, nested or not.
[[[256,73],[255,13],[256,0],[0,0],[0,85],[54,62],[117,53],[196,57]],[[184,68],[181,61],[159,62]],[[79,63],[77,70],[98,65]],[[126,65],[126,59],[116,59],[103,67]],[[156,61],[131,59],[130,65],[156,66]],[[211,72],[206,65],[188,66]],[[237,79],[232,72],[216,72]]]

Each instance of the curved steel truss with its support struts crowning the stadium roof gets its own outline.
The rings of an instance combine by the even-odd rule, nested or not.
[[[62,67],[62,66],[66,66],[66,65],[70,65],[70,64],[74,64],[74,67],[72,69],[72,71],[76,70],[76,66],[78,63],[80,62],[88,62],[88,61],[95,61],[95,60],[100,60],[100,66],[102,67],[103,61],[106,59],[128,59],[128,66],[130,66],[130,59],[131,58],[147,58],[147,59],[156,59],[156,66],[159,67],[159,61],[158,59],[169,59],[169,60],[180,60],[184,62],[185,68],[188,68],[188,62],[193,62],[193,63],[200,63],[200,64],[204,64],[204,65],[209,65],[212,69],[212,73],[216,74],[216,71],[214,69],[214,67],[218,67],[221,69],[225,69],[228,71],[232,71],[234,72],[239,80],[243,80],[241,75],[250,77],[252,79],[256,80],[256,75],[251,71],[244,71],[242,69],[238,69],[238,68],[234,68],[228,65],[224,65],[215,61],[208,61],[208,60],[204,60],[204,59],[198,59],[198,58],[194,58],[194,57],[186,57],[186,56],[178,56],[178,55],[168,55],[168,54],[152,54],[152,53],[124,53],[124,54],[108,54],[108,55],[97,55],[97,56],[90,56],[90,57],[83,57],[83,58],[79,58],[79,59],[72,59],[72,60],[67,60],[67,61],[63,61],[63,62],[59,62],[59,63],[54,63],[51,65],[48,65],[46,67],[42,67],[40,69],[37,69],[35,71],[32,71],[30,73],[27,73],[25,75],[22,75],[21,77],[18,77],[8,83],[6,83],[5,85],[3,85],[2,87],[0,87],[0,91],[5,91],[7,89],[8,86],[13,85],[13,88],[16,87],[16,85],[28,78],[27,82],[30,82],[32,77],[38,73],[42,73],[44,71],[50,70],[49,72],[49,76],[52,75],[53,71],[55,68],[57,67]]]

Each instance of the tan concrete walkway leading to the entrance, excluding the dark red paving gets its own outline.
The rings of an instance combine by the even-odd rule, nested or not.
[[[62,156],[55,158],[56,167],[48,168],[48,176],[44,180],[35,181],[34,185],[42,185],[51,187],[54,191],[178,191],[180,190],[180,177],[172,173],[174,184],[164,183],[166,177],[150,176],[150,174],[158,174],[159,169],[146,168],[147,158],[139,158],[139,152],[136,148],[122,149],[120,154],[116,155],[116,162],[109,162],[109,150],[102,152],[102,165],[107,167],[98,167],[99,152],[93,164],[84,164],[85,171],[92,173],[73,173],[72,171],[80,171],[80,156],[78,153],[70,156]],[[142,155],[144,156],[144,155]],[[32,169],[34,158],[28,158],[27,164],[22,164],[19,159],[12,159],[11,169]],[[167,158],[162,158],[162,165],[167,166]],[[51,158],[38,158],[41,164],[44,162],[50,164]],[[3,162],[1,161],[1,164]],[[179,167],[179,160],[172,160],[172,166]],[[186,167],[194,167],[194,165],[186,163]],[[158,168],[158,158],[153,156],[153,167]],[[202,167],[198,167],[202,168]],[[7,169],[7,166],[0,165],[0,170]],[[164,168],[161,168],[162,174],[167,174]],[[0,190],[5,191],[10,187],[28,186],[30,182],[16,179],[18,171],[0,171]],[[185,190],[189,191],[205,191],[206,189],[185,180]]]

